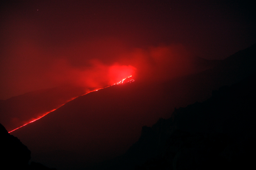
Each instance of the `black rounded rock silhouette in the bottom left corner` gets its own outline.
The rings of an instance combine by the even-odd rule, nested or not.
[[[10,135],[0,124],[1,169],[26,169],[30,160],[30,150],[17,137]]]

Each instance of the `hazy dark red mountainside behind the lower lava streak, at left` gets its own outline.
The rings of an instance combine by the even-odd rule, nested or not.
[[[83,94],[85,88],[61,86],[1,100],[0,123],[12,131]]]

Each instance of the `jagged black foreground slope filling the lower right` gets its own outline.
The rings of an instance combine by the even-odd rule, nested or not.
[[[256,74],[144,126],[123,156],[89,169],[255,169]]]

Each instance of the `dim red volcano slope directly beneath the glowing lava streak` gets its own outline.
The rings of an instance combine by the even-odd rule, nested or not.
[[[12,135],[35,162],[57,169],[82,169],[124,153],[144,125],[169,118],[175,107],[203,101],[212,90],[255,71],[255,45],[215,68],[166,82],[135,81],[80,96]]]

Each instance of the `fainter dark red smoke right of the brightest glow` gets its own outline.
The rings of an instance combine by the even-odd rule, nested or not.
[[[130,62],[143,81],[165,81],[195,72],[195,57],[181,44],[134,49]]]

